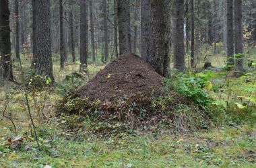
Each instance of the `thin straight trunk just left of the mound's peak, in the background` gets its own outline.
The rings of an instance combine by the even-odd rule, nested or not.
[[[108,2],[102,0],[104,14],[104,60],[108,61]]]

